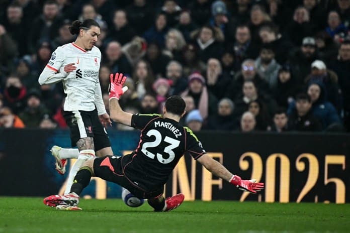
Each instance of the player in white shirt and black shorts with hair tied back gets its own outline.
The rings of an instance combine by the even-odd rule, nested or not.
[[[113,154],[104,129],[112,122],[102,99],[99,81],[101,52],[95,46],[101,34],[100,26],[92,19],[76,20],[69,31],[77,35],[75,42],[58,47],[39,77],[40,85],[63,83],[66,94],[64,118],[70,129],[72,147],[77,146],[79,151],[70,170],[65,193],[69,193],[76,172],[86,160],[95,155]],[[54,146],[51,152],[55,156],[57,170],[63,174],[67,157],[60,157],[60,149]],[[73,155],[69,156],[76,157],[76,149],[68,152]]]

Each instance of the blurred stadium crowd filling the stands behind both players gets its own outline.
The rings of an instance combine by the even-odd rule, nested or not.
[[[71,22],[91,18],[107,110],[122,72],[125,111],[181,95],[193,131],[350,132],[350,0],[0,2],[0,127],[67,127],[62,83],[38,77],[75,40]]]

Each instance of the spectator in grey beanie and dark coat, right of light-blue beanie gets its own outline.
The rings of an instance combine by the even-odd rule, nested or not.
[[[238,118],[233,114],[234,104],[229,98],[222,98],[215,115],[209,115],[208,130],[233,131],[238,128]]]

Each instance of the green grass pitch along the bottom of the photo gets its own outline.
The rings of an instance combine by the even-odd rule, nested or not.
[[[170,212],[121,199],[81,200],[82,211],[47,207],[42,198],[0,197],[0,232],[350,232],[350,205],[185,201]]]

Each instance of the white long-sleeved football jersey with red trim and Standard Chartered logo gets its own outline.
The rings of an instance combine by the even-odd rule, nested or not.
[[[40,74],[39,83],[53,84],[62,81],[66,99],[65,111],[92,111],[99,115],[106,113],[99,81],[101,51],[94,46],[86,51],[74,43],[57,47],[51,59]],[[64,66],[74,63],[76,69],[66,73]]]

